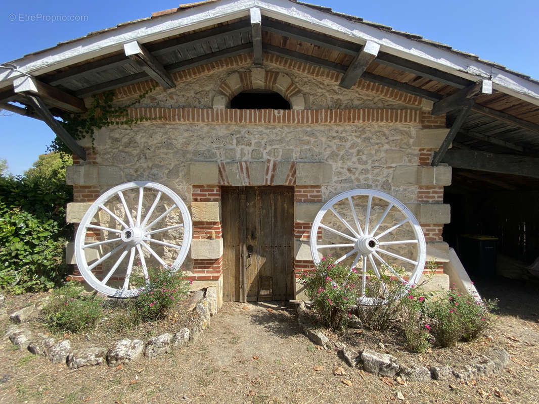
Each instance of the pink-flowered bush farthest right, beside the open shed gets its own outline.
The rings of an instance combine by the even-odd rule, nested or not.
[[[427,306],[430,329],[440,346],[453,346],[481,335],[494,321],[497,301],[476,301],[475,296],[455,288]]]

